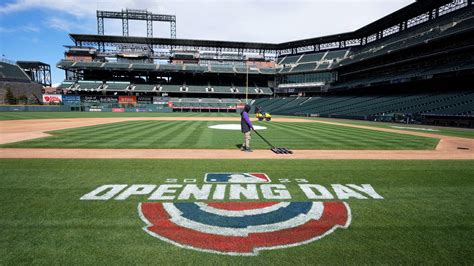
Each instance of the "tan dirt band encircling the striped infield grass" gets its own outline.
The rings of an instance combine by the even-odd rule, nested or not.
[[[131,117],[11,120],[0,124],[0,144],[50,136],[47,131],[108,124],[125,121],[234,121],[232,117]],[[74,159],[370,159],[370,160],[474,160],[474,139],[447,137],[423,132],[377,128],[362,125],[275,118],[274,122],[324,123],[413,136],[439,139],[435,150],[294,150],[291,155],[278,155],[270,150],[245,153],[239,150],[204,149],[29,149],[1,148],[0,158],[74,158]]]

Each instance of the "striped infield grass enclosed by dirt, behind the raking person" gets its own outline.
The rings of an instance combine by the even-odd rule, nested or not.
[[[49,132],[54,136],[2,145],[32,148],[203,148],[235,149],[240,131],[209,129],[225,122],[127,121]],[[234,122],[235,123],[235,122]],[[237,121],[238,123],[238,121]],[[319,123],[256,122],[275,146],[291,149],[434,149],[437,139]],[[251,147],[268,146],[253,134]]]

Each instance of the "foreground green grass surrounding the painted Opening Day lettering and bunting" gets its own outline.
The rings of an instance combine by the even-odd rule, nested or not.
[[[206,172],[265,172],[311,183],[371,184],[383,200],[348,200],[352,223],[307,245],[232,257],[146,234],[137,204],[80,201],[103,184],[163,184]],[[302,265],[474,263],[472,161],[0,160],[0,264]],[[293,200],[305,200],[294,183]]]

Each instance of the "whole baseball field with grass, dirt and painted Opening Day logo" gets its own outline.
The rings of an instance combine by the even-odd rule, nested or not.
[[[472,130],[255,122],[278,155],[209,128],[236,114],[0,119],[2,265],[474,262]]]

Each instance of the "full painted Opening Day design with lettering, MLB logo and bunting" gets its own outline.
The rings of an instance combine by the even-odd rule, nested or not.
[[[80,199],[148,196],[149,202],[138,204],[138,215],[151,236],[182,248],[240,256],[319,240],[349,227],[351,210],[342,200],[383,199],[370,184],[323,186],[305,179],[272,184],[264,173],[207,173],[204,184],[195,184],[196,179],[179,181],[107,184]],[[285,185],[291,182],[308,201],[291,201]]]

